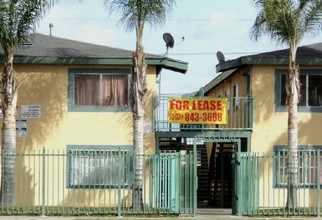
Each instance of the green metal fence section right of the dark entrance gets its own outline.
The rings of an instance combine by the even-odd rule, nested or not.
[[[288,162],[297,160],[297,207],[287,208]],[[321,210],[321,151],[299,151],[291,157],[237,153],[235,164],[235,203],[237,215],[319,216]]]

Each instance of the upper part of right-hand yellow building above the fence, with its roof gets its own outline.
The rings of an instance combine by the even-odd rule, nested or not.
[[[296,62],[300,69],[298,104],[300,147],[318,149],[322,124],[322,43],[301,46]],[[272,154],[287,146],[288,107],[285,74],[289,50],[278,50],[220,62],[221,74],[204,87],[205,96],[254,99],[250,144],[245,151]],[[248,100],[246,100],[248,101]],[[238,107],[238,103],[234,103]],[[236,110],[236,109],[234,109]]]

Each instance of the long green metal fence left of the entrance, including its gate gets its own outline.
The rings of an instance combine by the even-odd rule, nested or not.
[[[131,151],[49,151],[15,157],[15,203],[1,215],[159,215],[195,213],[194,154],[140,155],[143,206],[133,208]],[[2,164],[3,165],[3,164]]]

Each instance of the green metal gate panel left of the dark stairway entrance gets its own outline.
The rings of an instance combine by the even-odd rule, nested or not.
[[[196,213],[197,165],[194,151],[152,157],[152,204],[177,214]]]

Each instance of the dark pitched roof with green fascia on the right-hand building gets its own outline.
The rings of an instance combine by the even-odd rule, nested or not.
[[[216,71],[221,72],[244,65],[288,65],[288,63],[289,49],[284,49],[242,56],[237,59],[220,62],[216,66]],[[298,47],[296,63],[298,65],[322,65],[322,43]]]

